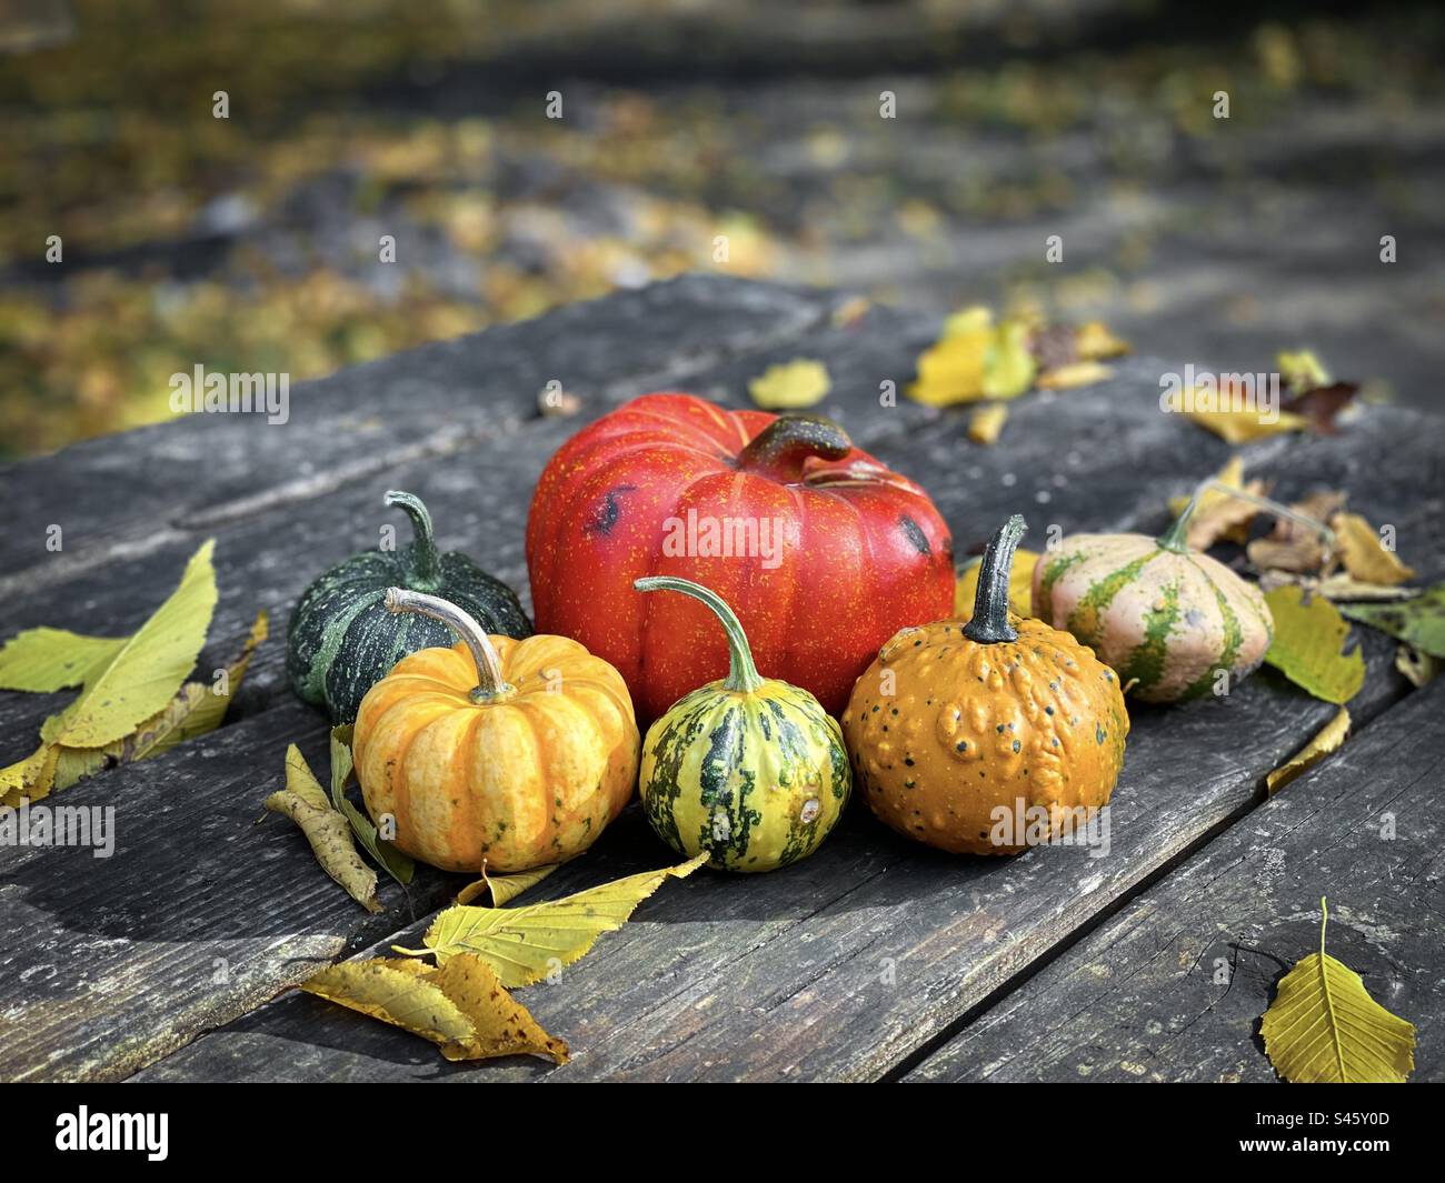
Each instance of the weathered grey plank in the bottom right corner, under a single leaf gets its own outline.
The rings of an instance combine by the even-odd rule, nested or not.
[[[1445,1078],[1442,711],[1436,680],[907,1079],[1272,1080],[1260,1017],[1279,978],[1319,948],[1321,896],[1329,953],[1416,1024],[1413,1079]]]

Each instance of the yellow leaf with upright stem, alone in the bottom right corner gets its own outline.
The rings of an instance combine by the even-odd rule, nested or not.
[[[1260,1036],[1274,1070],[1296,1085],[1402,1085],[1415,1070],[1415,1024],[1392,1014],[1360,975],[1325,952],[1329,910],[1319,901],[1319,952],[1280,978]]]

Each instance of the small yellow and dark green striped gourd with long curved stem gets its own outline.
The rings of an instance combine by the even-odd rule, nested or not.
[[[683,695],[649,729],[640,789],[647,820],[678,854],[722,871],[772,871],[811,855],[853,787],[842,731],[808,690],[762,677],[720,595],[652,576],[637,591],[701,599],[727,633],[728,676]]]

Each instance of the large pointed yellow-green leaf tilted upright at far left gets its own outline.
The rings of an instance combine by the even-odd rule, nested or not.
[[[79,696],[40,729],[46,742],[98,748],[120,740],[160,711],[185,682],[205,644],[215,611],[215,540],[202,543],[186,563],[181,585]]]

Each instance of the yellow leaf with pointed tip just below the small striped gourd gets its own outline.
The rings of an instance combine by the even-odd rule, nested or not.
[[[410,956],[435,953],[441,965],[460,953],[475,953],[497,972],[509,989],[530,985],[546,978],[555,968],[575,962],[603,933],[626,924],[637,904],[666,878],[685,878],[705,861],[707,854],[701,854],[676,867],[629,875],[540,904],[458,904],[432,922],[422,937],[425,949],[396,948],[396,952]]]

